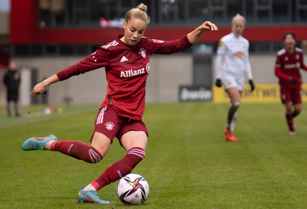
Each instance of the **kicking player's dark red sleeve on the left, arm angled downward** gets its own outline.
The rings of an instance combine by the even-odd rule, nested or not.
[[[88,71],[107,66],[109,60],[110,51],[99,48],[87,58],[84,58],[83,60],[76,62],[72,66],[61,70],[56,75],[60,79],[60,81],[63,81],[74,75],[80,75],[81,73],[83,74]]]

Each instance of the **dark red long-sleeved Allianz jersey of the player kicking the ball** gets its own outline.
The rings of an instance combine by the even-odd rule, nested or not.
[[[101,107],[109,105],[118,115],[141,120],[145,111],[146,78],[150,72],[151,54],[172,54],[192,46],[187,36],[173,41],[142,37],[129,46],[118,36],[87,58],[57,73],[63,81],[74,75],[105,67],[107,94]]]

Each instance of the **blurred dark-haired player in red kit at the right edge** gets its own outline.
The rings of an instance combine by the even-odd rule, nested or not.
[[[307,70],[303,62],[303,50],[295,47],[296,37],[292,32],[284,35],[285,48],[277,52],[275,75],[279,78],[280,97],[286,105],[286,119],[289,134],[295,135],[293,118],[302,110],[300,68]],[[294,106],[294,110],[292,107]]]

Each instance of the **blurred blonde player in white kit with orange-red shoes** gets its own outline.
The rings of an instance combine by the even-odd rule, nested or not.
[[[237,142],[233,131],[237,120],[237,110],[240,106],[241,95],[244,90],[244,72],[255,89],[251,74],[251,64],[248,58],[249,42],[242,37],[245,18],[236,14],[232,18],[232,32],[220,39],[216,57],[216,86],[225,87],[230,97],[227,125],[224,133],[226,141]]]

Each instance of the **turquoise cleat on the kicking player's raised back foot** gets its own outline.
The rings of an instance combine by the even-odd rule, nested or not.
[[[32,137],[30,139],[25,140],[21,145],[21,149],[23,150],[45,150],[45,145],[48,141],[55,140],[57,141],[57,137],[55,135],[45,136],[45,137]]]

